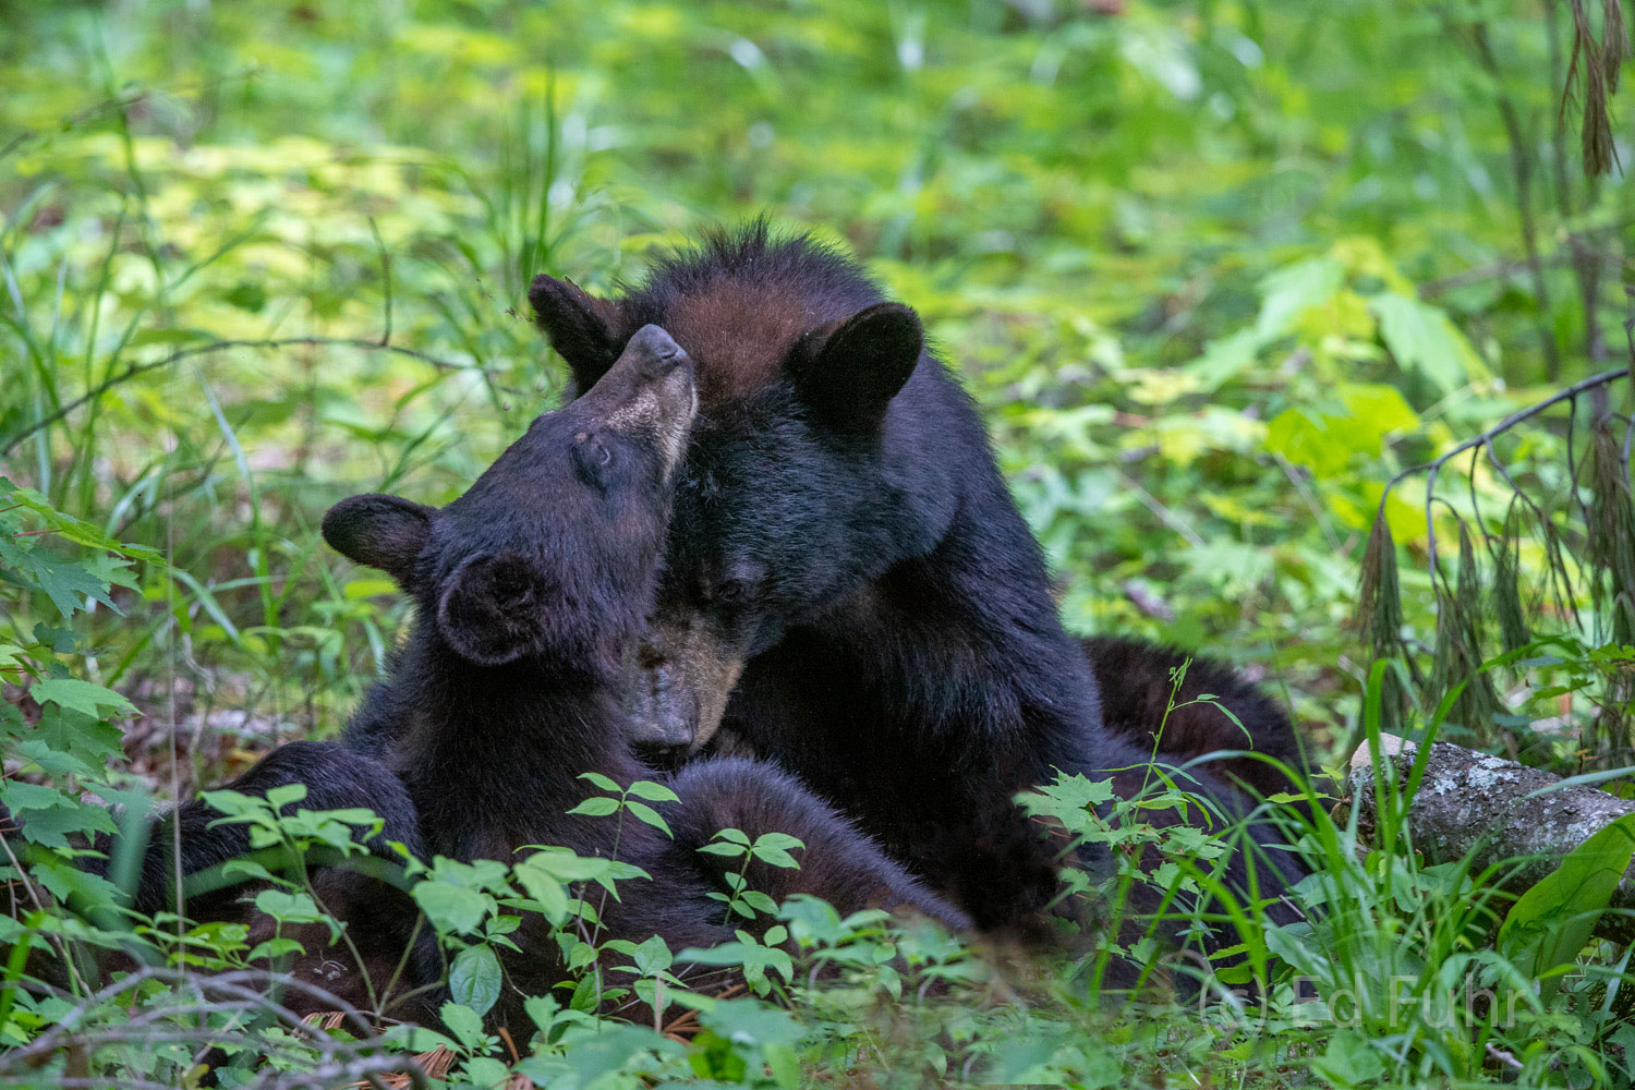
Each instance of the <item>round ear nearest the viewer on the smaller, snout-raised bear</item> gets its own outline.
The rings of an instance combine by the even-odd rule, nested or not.
[[[463,659],[502,667],[543,650],[548,596],[559,595],[538,565],[513,552],[476,556],[443,588],[437,626]]]

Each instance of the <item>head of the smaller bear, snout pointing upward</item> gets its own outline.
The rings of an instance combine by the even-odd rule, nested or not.
[[[687,353],[649,325],[448,507],[355,495],[324,516],[324,539],[397,580],[471,663],[618,668],[652,600],[697,405]]]

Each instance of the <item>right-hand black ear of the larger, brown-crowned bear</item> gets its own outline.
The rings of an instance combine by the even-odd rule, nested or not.
[[[790,377],[822,420],[845,431],[880,428],[886,405],[914,374],[925,335],[901,302],[876,302],[832,332],[809,335]]]

